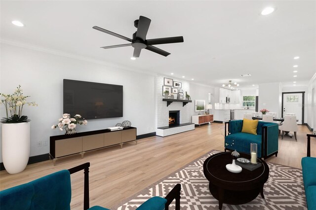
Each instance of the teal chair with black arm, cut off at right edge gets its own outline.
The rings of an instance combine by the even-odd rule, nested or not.
[[[307,134],[307,157],[302,158],[302,173],[308,210],[316,210],[316,158],[311,157],[311,137]]]

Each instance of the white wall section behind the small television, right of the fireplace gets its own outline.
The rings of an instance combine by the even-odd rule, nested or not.
[[[218,90],[218,89],[217,89]],[[190,96],[192,99],[192,106],[190,107],[190,115],[197,115],[201,112],[195,111],[195,100],[205,100],[205,105],[208,104],[208,94],[211,94],[211,104],[213,109],[215,108],[215,88],[211,86],[199,85],[197,83],[190,83]],[[217,99],[218,101],[218,99]],[[213,109],[210,109],[210,113],[213,114]],[[191,120],[190,120],[191,122]]]

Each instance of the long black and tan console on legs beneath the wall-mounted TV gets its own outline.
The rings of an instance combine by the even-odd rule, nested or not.
[[[129,141],[136,141],[137,129],[134,127],[124,128],[119,131],[110,131],[108,129],[98,131],[88,131],[72,135],[60,135],[50,137],[49,159],[56,160],[73,154],[83,154],[87,151],[104,148],[107,146],[120,145]]]

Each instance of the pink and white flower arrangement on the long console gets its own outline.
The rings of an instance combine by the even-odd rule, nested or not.
[[[88,121],[85,119],[80,120],[81,115],[76,114],[74,117],[70,116],[70,114],[63,114],[62,118],[59,119],[59,123],[57,125],[53,125],[51,129],[59,128],[59,130],[63,131],[65,129],[65,134],[76,134],[76,125],[86,125]]]

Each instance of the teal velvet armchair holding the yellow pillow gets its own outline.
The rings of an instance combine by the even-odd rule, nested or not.
[[[231,120],[225,123],[225,151],[244,152],[250,154],[250,143],[257,143],[258,158],[277,156],[278,124],[259,121],[257,135],[241,133],[243,120]],[[227,135],[228,125],[228,135]]]

